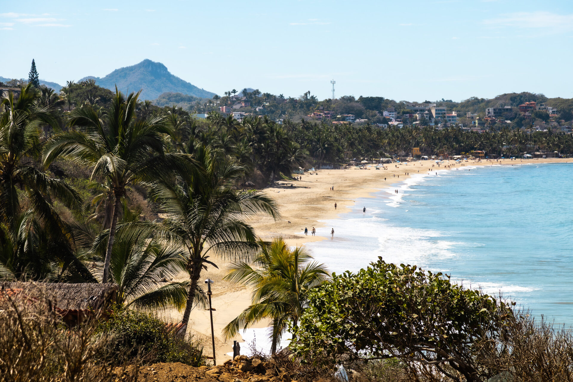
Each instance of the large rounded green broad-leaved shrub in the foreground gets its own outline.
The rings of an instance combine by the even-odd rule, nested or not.
[[[291,348],[306,360],[399,359],[477,381],[492,370],[476,359],[494,350],[490,340],[512,317],[504,302],[442,273],[379,258],[356,274],[333,274],[311,293]]]

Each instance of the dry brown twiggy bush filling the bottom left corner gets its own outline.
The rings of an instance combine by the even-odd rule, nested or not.
[[[0,381],[115,380],[112,368],[121,357],[107,350],[108,337],[94,335],[97,314],[70,328],[55,306],[38,285],[17,294],[0,291]],[[126,375],[121,380],[136,377]]]

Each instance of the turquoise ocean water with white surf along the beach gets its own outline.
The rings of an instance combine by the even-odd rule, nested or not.
[[[442,271],[573,326],[573,164],[466,166],[388,183],[324,220],[317,234],[328,239],[307,244],[317,261],[336,273],[378,256]]]

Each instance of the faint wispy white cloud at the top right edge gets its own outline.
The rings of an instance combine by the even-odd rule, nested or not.
[[[548,11],[516,12],[484,20],[486,25],[547,29],[555,32],[573,29],[573,14]]]

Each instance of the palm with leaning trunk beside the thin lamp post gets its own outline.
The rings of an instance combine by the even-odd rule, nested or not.
[[[186,249],[186,269],[190,286],[182,329],[185,333],[201,271],[214,253],[236,259],[249,256],[258,244],[253,228],[244,222],[247,216],[260,213],[278,218],[276,203],[260,191],[238,192],[234,183],[244,169],[225,163],[211,155],[208,148],[195,151],[195,165],[182,172],[176,182],[158,182],[153,194],[167,214],[163,234]]]

